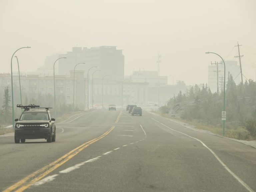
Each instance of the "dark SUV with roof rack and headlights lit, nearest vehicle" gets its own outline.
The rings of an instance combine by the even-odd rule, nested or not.
[[[39,105],[17,105],[24,109],[19,119],[15,119],[14,142],[24,143],[26,139],[46,139],[48,143],[56,140],[55,119],[50,107]]]

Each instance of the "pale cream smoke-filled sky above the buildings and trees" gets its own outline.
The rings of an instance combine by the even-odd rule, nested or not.
[[[220,61],[205,52],[238,61],[237,41],[243,73],[255,80],[256,0],[0,0],[0,73],[10,73],[20,47],[32,47],[16,53],[20,70],[35,71],[46,56],[74,46],[117,46],[125,75],[157,70],[159,53],[161,75],[199,84]]]

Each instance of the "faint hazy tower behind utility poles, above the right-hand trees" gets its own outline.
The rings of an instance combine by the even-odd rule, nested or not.
[[[218,62],[221,63],[221,62]],[[225,61],[226,66],[226,83],[228,79],[228,74],[233,76],[233,79],[238,85],[240,83],[240,66],[237,64],[237,61]],[[217,81],[217,66],[215,64],[208,66],[208,86],[212,92],[217,92],[217,83],[219,87],[219,93],[223,90],[224,87],[224,64],[218,64],[218,81]]]

